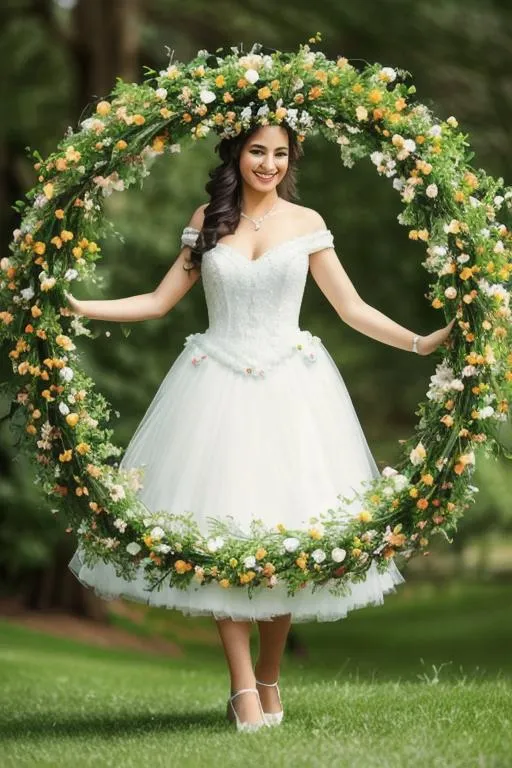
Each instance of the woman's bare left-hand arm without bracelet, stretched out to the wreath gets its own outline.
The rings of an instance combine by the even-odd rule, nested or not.
[[[192,216],[189,226],[201,229],[204,219],[204,208],[200,206]],[[178,258],[161,280],[160,284],[150,293],[128,296],[125,299],[75,299],[69,293],[66,298],[71,309],[78,315],[85,315],[92,320],[111,320],[127,323],[139,320],[150,320],[163,317],[183,298],[199,279],[197,269],[185,270],[185,259],[190,248],[181,249]]]

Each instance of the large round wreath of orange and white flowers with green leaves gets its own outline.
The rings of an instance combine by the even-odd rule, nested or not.
[[[20,228],[0,261],[11,424],[86,562],[112,563],[125,578],[142,567],[153,589],[193,579],[249,594],[257,585],[284,583],[292,594],[327,582],[342,593],[372,562],[382,572],[396,554],[427,554],[435,534],[451,540],[478,491],[470,484],[476,446],[508,456],[500,428],[512,389],[512,233],[504,223],[512,189],[471,168],[457,120],[439,120],[417,103],[410,73],[330,60],[312,49],[318,40],[295,53],[257,44],[249,54],[200,51],[189,64],[171,56],[160,72],[146,68],[139,85],[119,79],[46,160],[31,152],[38,183],[16,203]],[[143,472],[119,467],[110,406],[74,342],[90,333],[88,320],[73,314],[65,294],[73,280],[94,275],[106,197],[142,182],[156,156],[254,123],[287,123],[301,141],[320,132],[347,167],[369,156],[404,203],[399,222],[426,250],[431,306],[456,324],[415,433],[401,441],[399,465],[365,484],[355,516],[340,503],[312,518],[309,530],[255,522],[242,537],[212,521],[204,536],[191,516],[149,511],[138,495]]]

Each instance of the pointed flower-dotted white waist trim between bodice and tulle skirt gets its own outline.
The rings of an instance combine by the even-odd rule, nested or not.
[[[321,339],[310,331],[293,331],[291,334],[270,340],[258,339],[251,344],[248,339],[233,340],[205,331],[191,333],[184,346],[190,350],[193,365],[200,365],[208,357],[244,376],[263,378],[280,363],[293,355],[301,355],[308,363],[317,359]]]

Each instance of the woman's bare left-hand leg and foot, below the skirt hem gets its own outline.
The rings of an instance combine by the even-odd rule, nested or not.
[[[255,688],[256,679],[252,668],[249,645],[251,622],[219,619],[216,624],[228,662],[231,693],[233,694],[241,688]],[[260,705],[255,693],[244,693],[237,696],[233,705],[238,717],[243,722],[258,723],[261,721]]]

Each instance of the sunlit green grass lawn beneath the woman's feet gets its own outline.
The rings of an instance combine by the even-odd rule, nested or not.
[[[164,616],[180,658],[2,621],[0,766],[509,768],[512,588],[405,586],[344,621],[295,625],[308,656],[286,660],[286,719],[256,734],[224,720],[207,619],[147,613],[137,631]]]

